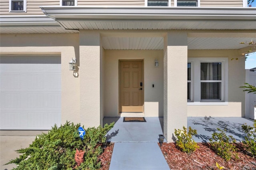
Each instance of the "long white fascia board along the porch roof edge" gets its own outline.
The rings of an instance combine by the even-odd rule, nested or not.
[[[55,20],[250,20],[256,8],[41,6]]]

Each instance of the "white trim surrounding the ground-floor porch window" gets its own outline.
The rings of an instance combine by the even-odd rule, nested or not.
[[[221,83],[221,100],[201,100],[201,63],[220,62],[222,63],[222,83]],[[191,63],[191,79],[193,89],[190,105],[218,105],[216,103],[228,102],[228,57],[189,57],[188,63]],[[193,63],[193,64],[192,64]],[[193,71],[192,71],[193,70]],[[193,98],[192,98],[193,97]],[[193,104],[194,103],[194,104]],[[207,103],[207,104],[205,104]]]

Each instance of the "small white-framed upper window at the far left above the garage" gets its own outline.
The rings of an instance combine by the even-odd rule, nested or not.
[[[9,12],[26,12],[26,0],[9,0]]]

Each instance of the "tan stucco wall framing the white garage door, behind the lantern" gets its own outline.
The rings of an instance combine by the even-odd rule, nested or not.
[[[79,65],[79,34],[1,34],[1,54],[60,54],[61,123],[80,123],[80,77],[74,77],[68,62]]]

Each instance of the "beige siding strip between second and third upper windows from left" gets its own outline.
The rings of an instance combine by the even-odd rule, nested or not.
[[[145,6],[144,0],[78,0],[78,6]]]

